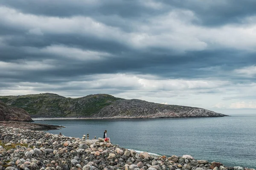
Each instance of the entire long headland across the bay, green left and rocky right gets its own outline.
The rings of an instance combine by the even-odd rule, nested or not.
[[[30,115],[87,118],[165,118],[227,116],[203,108],[163,105],[139,99],[121,99],[108,94],[66,98],[57,94],[0,96],[7,105],[23,108]]]

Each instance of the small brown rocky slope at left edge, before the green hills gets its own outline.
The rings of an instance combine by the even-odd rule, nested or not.
[[[33,122],[29,113],[21,108],[11,107],[0,101],[0,121]]]

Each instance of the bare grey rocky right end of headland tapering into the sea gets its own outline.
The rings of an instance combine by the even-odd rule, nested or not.
[[[179,105],[163,105],[138,99],[116,100],[93,117],[105,118],[179,118],[179,117],[221,117],[221,113],[203,108]]]

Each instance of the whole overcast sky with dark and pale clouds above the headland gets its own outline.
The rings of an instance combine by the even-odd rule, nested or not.
[[[0,96],[256,113],[255,0],[0,0]]]

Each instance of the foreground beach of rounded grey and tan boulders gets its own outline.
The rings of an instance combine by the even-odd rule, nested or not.
[[[102,138],[85,140],[0,126],[0,170],[254,170],[192,156],[151,156]]]

